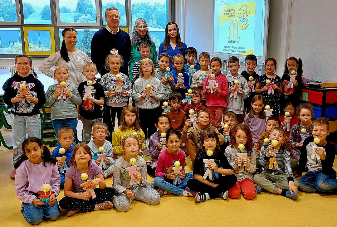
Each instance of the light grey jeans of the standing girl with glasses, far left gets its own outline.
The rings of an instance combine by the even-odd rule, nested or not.
[[[22,154],[22,142],[26,139],[26,134],[28,136],[35,136],[37,138],[41,137],[41,118],[40,115],[33,116],[18,116],[10,114],[12,119],[12,132],[13,132],[13,165],[18,161]]]

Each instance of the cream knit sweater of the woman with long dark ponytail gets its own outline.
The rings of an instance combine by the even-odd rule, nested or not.
[[[45,75],[54,78],[54,72],[51,70],[52,67],[57,67],[59,65],[63,65],[69,69],[69,77],[67,79],[67,84],[75,85],[76,88],[79,87],[79,84],[87,79],[82,74],[83,65],[86,62],[90,62],[90,59],[86,53],[77,49],[76,52],[68,52],[69,62],[64,61],[61,58],[60,52],[56,52],[44,59],[43,62],[39,66],[40,72]]]

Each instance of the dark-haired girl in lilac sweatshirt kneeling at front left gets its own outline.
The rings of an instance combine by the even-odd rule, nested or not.
[[[17,170],[15,190],[22,201],[21,213],[32,225],[40,224],[43,219],[55,221],[61,216],[56,200],[61,183],[56,159],[37,137],[25,139],[22,150],[14,165]]]

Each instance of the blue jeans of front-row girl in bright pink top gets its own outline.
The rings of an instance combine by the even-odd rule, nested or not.
[[[184,192],[184,188],[186,188],[187,186],[187,181],[193,179],[193,172],[188,172],[185,174],[185,178],[181,179],[181,183],[178,185],[173,185],[167,181],[164,180],[164,178],[162,178],[161,176],[157,176],[153,182],[154,185],[165,190],[168,192],[171,192],[173,194],[176,195],[180,195],[182,196],[183,192]]]

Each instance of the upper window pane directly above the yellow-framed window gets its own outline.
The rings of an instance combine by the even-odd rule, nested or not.
[[[51,25],[50,1],[23,0],[25,24]]]

